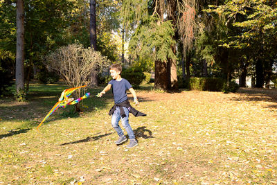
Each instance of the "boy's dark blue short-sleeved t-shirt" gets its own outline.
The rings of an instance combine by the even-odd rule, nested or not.
[[[109,84],[113,90],[115,104],[122,103],[128,99],[126,90],[132,88],[132,85],[128,82],[128,80],[124,78],[120,81],[111,80],[109,81]]]

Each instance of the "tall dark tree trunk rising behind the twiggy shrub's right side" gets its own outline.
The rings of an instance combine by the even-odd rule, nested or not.
[[[89,33],[90,33],[90,44],[91,48],[96,51],[96,1],[90,0],[90,21],[89,21]]]

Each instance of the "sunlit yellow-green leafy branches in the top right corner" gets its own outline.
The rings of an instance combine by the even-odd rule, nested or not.
[[[222,39],[220,46],[244,49],[253,47],[267,38],[269,44],[276,36],[276,4],[256,0],[228,0],[222,6],[209,6],[207,12],[215,12],[226,26],[235,30]],[[275,26],[274,26],[275,25]],[[233,26],[233,27],[232,27]],[[274,42],[271,42],[274,44]]]

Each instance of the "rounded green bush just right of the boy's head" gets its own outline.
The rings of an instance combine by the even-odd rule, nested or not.
[[[135,88],[139,87],[141,82],[145,80],[145,75],[143,71],[141,71],[141,69],[139,68],[134,67],[123,69],[121,77],[127,79]]]

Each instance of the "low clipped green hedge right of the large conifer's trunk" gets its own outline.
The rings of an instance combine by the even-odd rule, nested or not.
[[[222,78],[190,78],[188,89],[199,91],[221,91],[224,85]]]

